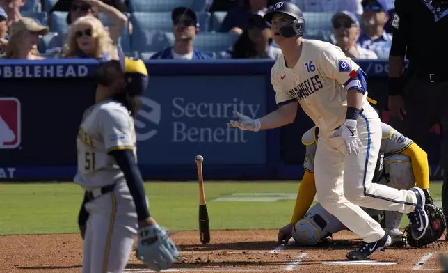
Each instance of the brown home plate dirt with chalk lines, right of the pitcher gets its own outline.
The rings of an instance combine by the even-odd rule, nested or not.
[[[200,244],[197,231],[172,234],[180,249],[179,261],[163,272],[441,272],[440,253],[448,243],[415,249],[389,248],[370,260],[349,261],[345,254],[360,240],[348,231],[333,235],[333,242],[316,247],[278,246],[277,231],[212,231],[210,244]],[[125,272],[151,272],[131,257]]]

